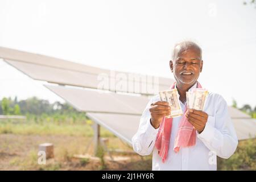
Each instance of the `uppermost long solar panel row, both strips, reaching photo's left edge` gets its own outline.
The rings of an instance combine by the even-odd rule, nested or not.
[[[155,94],[174,82],[170,78],[111,71],[3,47],[0,47],[0,57],[35,80],[63,85]]]

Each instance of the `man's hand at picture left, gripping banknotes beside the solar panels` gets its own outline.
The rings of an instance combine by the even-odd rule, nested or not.
[[[171,107],[166,101],[157,101],[151,104],[151,125],[157,129],[163,120],[164,116],[171,114]]]

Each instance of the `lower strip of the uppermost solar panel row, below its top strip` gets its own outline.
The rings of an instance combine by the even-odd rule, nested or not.
[[[112,90],[117,92],[155,94],[160,89],[168,89],[170,85],[160,85],[154,82],[143,82],[139,80],[142,77],[131,78],[125,80],[122,78],[111,78],[106,76],[92,75],[86,72],[76,72],[72,70],[65,70],[55,67],[48,67],[45,65],[24,63],[20,61],[5,60],[7,63],[25,73],[27,76],[35,79],[48,81],[63,85],[81,86],[85,88]],[[123,73],[125,74],[125,73]],[[111,75],[109,73],[109,75]],[[128,77],[128,76],[127,76]],[[157,79],[157,78],[156,78]],[[161,78],[159,78],[161,81]],[[138,80],[138,81],[137,81]],[[165,79],[163,81],[167,82]],[[170,84],[174,81],[169,79]],[[103,85],[102,85],[103,84]],[[102,86],[101,86],[102,85]],[[120,86],[119,86],[120,85]]]

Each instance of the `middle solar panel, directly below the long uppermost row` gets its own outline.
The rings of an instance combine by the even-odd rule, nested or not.
[[[80,111],[141,115],[148,98],[44,85]]]

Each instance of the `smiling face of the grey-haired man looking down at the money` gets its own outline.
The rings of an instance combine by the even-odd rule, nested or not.
[[[177,46],[170,67],[177,84],[194,85],[203,68],[200,49],[194,46],[185,49]]]

